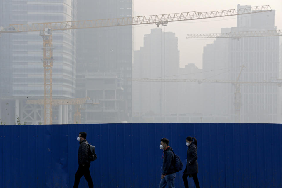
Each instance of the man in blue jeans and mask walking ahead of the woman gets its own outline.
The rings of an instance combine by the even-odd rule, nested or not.
[[[174,188],[174,179],[176,176],[174,170],[174,153],[173,149],[168,145],[169,140],[167,138],[161,139],[160,149],[164,150],[162,158],[162,173],[161,173],[161,182],[159,187],[164,188],[168,185],[169,188]]]

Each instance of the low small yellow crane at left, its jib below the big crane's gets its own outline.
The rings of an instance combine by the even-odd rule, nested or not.
[[[26,104],[34,104],[34,105],[43,105],[45,104],[45,99],[38,99],[38,100],[27,100]],[[74,119],[73,123],[78,123],[80,124],[81,120],[81,105],[82,104],[92,104],[92,105],[97,105],[99,103],[93,103],[92,100],[90,100],[89,97],[84,97],[84,98],[75,98],[75,99],[53,99],[52,100],[53,105],[75,105],[75,113],[74,113]]]

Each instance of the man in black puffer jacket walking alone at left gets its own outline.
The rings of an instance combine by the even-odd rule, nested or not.
[[[90,175],[90,161],[88,160],[89,157],[89,144],[86,140],[86,132],[80,132],[77,141],[79,141],[79,148],[78,148],[78,169],[75,173],[75,180],[73,188],[78,188],[78,184],[80,182],[80,178],[82,176],[85,177],[86,181],[88,182],[88,187],[93,188],[93,182]]]

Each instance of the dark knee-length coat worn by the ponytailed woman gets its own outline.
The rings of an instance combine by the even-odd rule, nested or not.
[[[198,173],[197,146],[192,142],[187,150],[187,164],[183,174],[191,175]]]

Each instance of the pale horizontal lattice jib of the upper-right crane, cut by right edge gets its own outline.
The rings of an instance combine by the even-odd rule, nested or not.
[[[282,36],[282,30],[234,31],[230,33],[187,34],[186,38],[242,38],[242,37],[262,37],[262,36]]]

